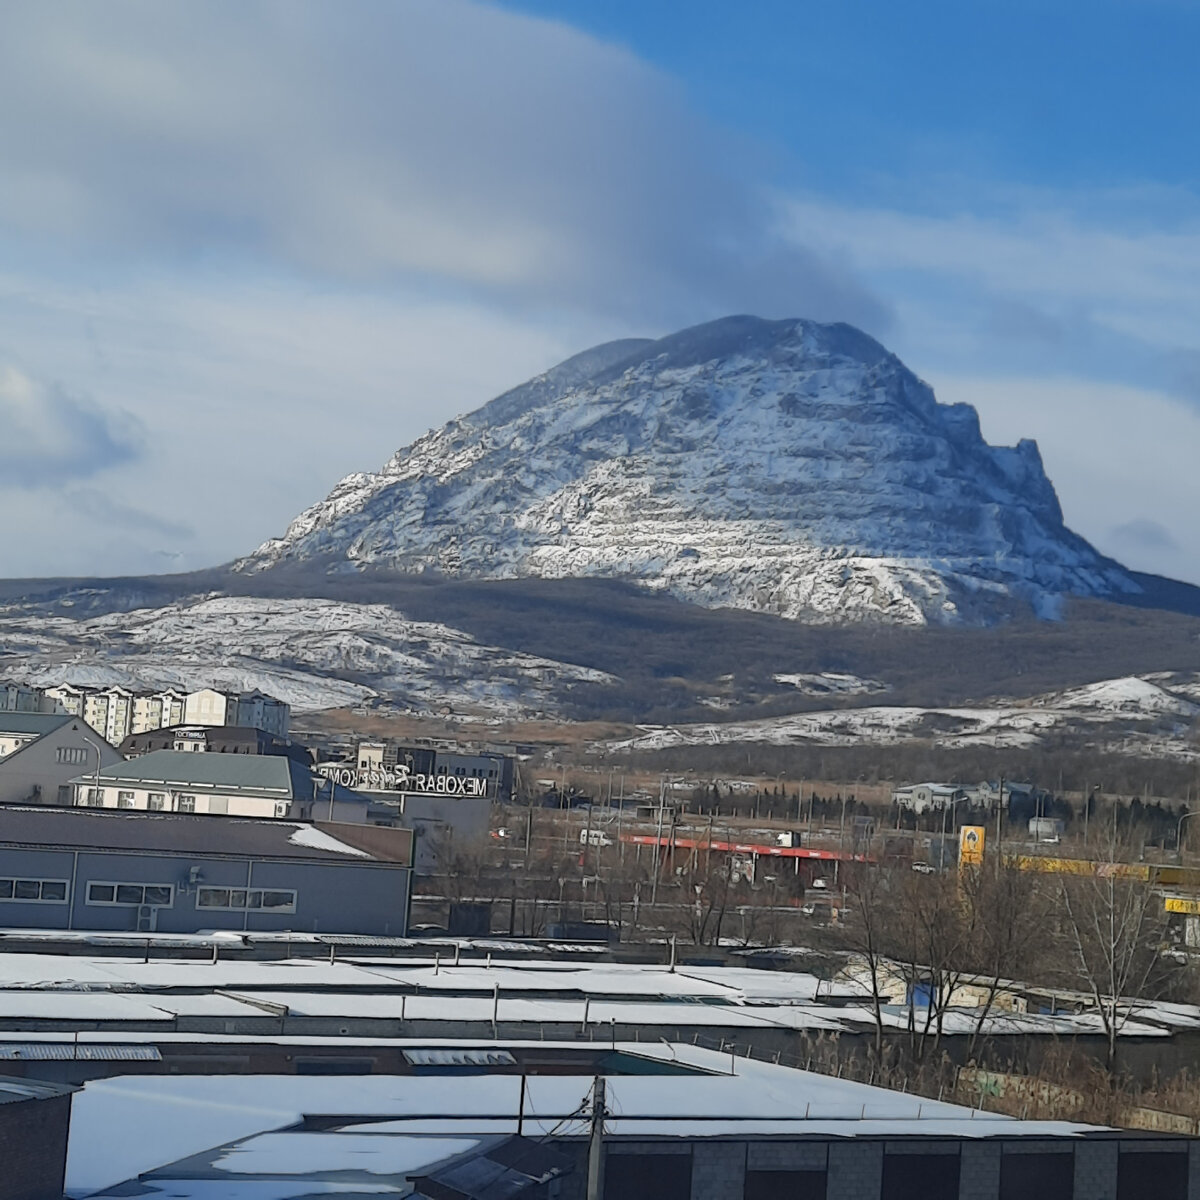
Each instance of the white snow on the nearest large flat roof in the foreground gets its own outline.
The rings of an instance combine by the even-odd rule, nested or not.
[[[611,1128],[618,1135],[1066,1136],[1093,1128],[1022,1122],[744,1058],[733,1063],[737,1074],[731,1075],[727,1055],[690,1045],[618,1045],[630,1054],[684,1062],[712,1073],[610,1078]],[[541,1134],[580,1110],[590,1079],[532,1075],[526,1088],[524,1111],[533,1116],[527,1117],[524,1132]],[[515,1075],[143,1075],[96,1080],[74,1099],[67,1188],[78,1196],[113,1187],[167,1163],[294,1126],[304,1114],[370,1114],[378,1118],[350,1126],[352,1138],[371,1132],[457,1134],[469,1140],[486,1133],[516,1132],[520,1106],[521,1080]],[[124,1136],[131,1128],[140,1135]],[[563,1132],[581,1133],[581,1123],[576,1121]],[[358,1141],[346,1145],[358,1146]],[[244,1147],[251,1157],[240,1158],[242,1151],[230,1151],[217,1163],[224,1170],[240,1170],[252,1165],[257,1154],[256,1169],[278,1174],[287,1169],[286,1158],[276,1153],[284,1146],[282,1136],[265,1138]],[[311,1152],[319,1148],[313,1146]],[[329,1152],[337,1153],[332,1146]],[[361,1168],[361,1163],[356,1165]]]

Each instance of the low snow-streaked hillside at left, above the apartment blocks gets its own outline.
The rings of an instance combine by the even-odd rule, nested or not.
[[[260,688],[300,712],[385,697],[415,713],[490,718],[556,710],[572,688],[610,682],[384,605],[233,596],[82,620],[0,610],[0,678]]]

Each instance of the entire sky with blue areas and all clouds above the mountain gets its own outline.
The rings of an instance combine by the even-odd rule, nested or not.
[[[0,6],[6,575],[227,560],[608,337],[850,320],[1200,582],[1200,4]]]

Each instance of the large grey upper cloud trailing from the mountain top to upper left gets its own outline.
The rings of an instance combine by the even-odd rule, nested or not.
[[[472,0],[6,12],[0,223],[685,322],[880,324],[775,235],[748,151],[624,49]]]

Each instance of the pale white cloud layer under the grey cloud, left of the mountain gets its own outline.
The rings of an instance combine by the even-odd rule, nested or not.
[[[280,533],[342,475],[382,466],[594,332],[284,277],[172,276],[95,290],[0,275],[0,361],[19,346],[28,374],[53,373],[64,395],[86,389],[100,410],[132,409],[144,446],[86,494],[70,490],[74,500],[61,473],[37,493],[23,476],[0,478],[0,504],[23,516],[0,529],[4,574],[226,562]],[[89,469],[113,461],[76,426],[43,428],[43,438]]]

